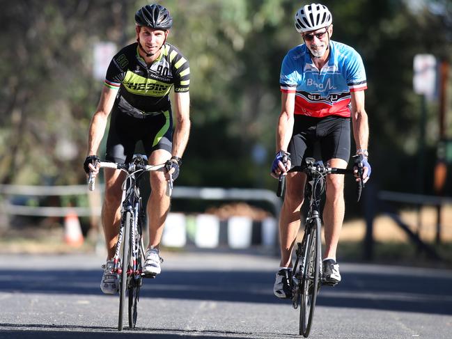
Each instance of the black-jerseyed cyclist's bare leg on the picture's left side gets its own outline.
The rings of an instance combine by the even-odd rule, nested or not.
[[[112,168],[104,168],[104,175],[105,197],[102,205],[102,226],[107,245],[107,259],[111,259],[115,253],[116,242],[118,242],[120,201],[123,194],[121,186],[125,173]]]

